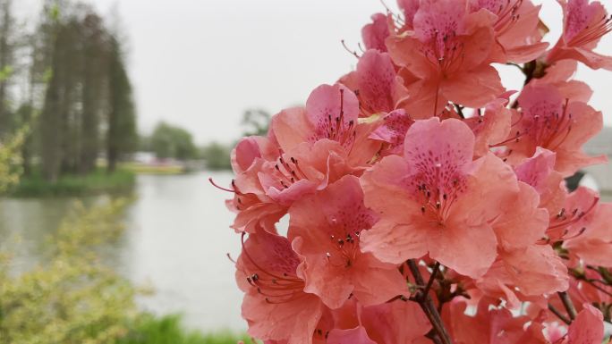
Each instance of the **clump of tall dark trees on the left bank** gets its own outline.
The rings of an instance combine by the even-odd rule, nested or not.
[[[132,84],[118,28],[89,5],[45,0],[32,28],[0,0],[0,139],[29,125],[24,174],[45,179],[107,169],[138,143]]]

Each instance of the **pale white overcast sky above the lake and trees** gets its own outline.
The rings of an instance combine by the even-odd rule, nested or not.
[[[164,120],[190,130],[198,143],[231,142],[242,112],[271,113],[301,104],[310,90],[332,83],[356,59],[340,40],[356,46],[378,0],[89,0],[100,13],[116,4],[129,38],[129,68],[143,132]],[[387,0],[391,4],[393,0]],[[556,41],[561,11],[543,3],[542,19]],[[35,18],[41,0],[16,0]],[[608,1],[604,1],[604,4]],[[599,44],[612,55],[612,38]],[[522,85],[520,71],[502,67],[506,88]],[[612,72],[581,66],[578,79],[595,89],[591,105],[612,125]]]

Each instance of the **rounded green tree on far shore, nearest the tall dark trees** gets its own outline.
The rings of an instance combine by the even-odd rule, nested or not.
[[[197,148],[191,133],[183,128],[160,122],[151,135],[151,148],[158,158],[187,160],[195,158]]]

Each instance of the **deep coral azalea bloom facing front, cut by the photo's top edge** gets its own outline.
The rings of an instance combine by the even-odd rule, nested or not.
[[[387,39],[409,98],[403,107],[414,118],[436,115],[448,101],[481,107],[504,92],[489,65],[495,15],[467,13],[461,0],[421,2],[414,31]],[[407,75],[404,75],[407,74]]]

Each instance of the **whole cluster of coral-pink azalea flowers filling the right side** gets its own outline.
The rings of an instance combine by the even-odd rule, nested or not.
[[[559,0],[399,0],[356,69],[234,148],[242,316],[265,343],[588,343],[612,317],[612,204],[565,178],[602,127],[578,63],[612,29]],[[548,2],[547,2],[548,4]],[[523,71],[518,92],[494,63]],[[286,234],[277,223],[288,217]]]

